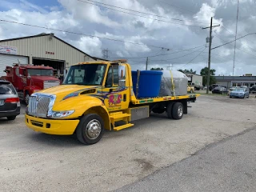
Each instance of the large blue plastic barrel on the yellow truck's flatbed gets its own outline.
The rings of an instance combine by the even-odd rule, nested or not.
[[[138,72],[132,71],[133,89],[137,95],[136,84]],[[138,98],[155,98],[160,92],[162,80],[162,71],[159,70],[141,70],[138,81]]]

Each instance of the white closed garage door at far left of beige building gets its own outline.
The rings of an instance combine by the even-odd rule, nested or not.
[[[18,60],[21,64],[29,63],[28,57],[13,54],[0,54],[0,77],[6,75],[6,73],[3,72],[3,70],[6,69],[6,66],[13,66],[14,63],[18,63]]]

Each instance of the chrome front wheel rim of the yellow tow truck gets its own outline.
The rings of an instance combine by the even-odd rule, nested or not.
[[[98,138],[99,134],[101,134],[102,126],[101,123],[97,119],[93,119],[88,122],[86,126],[86,136],[90,139]]]

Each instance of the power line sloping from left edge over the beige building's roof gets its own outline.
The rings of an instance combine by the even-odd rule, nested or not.
[[[46,29],[46,30],[56,30],[56,31],[65,32],[65,33],[68,33],[68,34],[78,34],[78,35],[87,36],[87,37],[91,37],[91,38],[102,38],[102,39],[106,39],[106,40],[114,41],[114,42],[126,42],[126,41],[122,41],[122,40],[114,39],[114,38],[103,38],[103,37],[99,37],[99,36],[91,35],[91,34],[76,33],[76,32],[71,32],[71,31],[68,31],[68,30],[58,30],[58,29],[54,29],[54,28],[50,28],[50,27],[46,27],[46,26],[35,26],[35,25],[30,25],[30,24],[26,24],[26,23],[22,23],[22,22],[8,21],[8,20],[4,20],[4,19],[0,19],[0,22],[10,22],[10,23],[19,24],[19,25],[22,25],[22,26],[33,26],[33,27]],[[154,48],[158,48],[158,49],[159,48],[160,49],[164,48],[162,46],[152,46],[152,45],[147,45],[147,44],[138,43],[138,42],[126,42],[126,43],[139,45],[139,46],[150,46],[150,47],[154,47]],[[164,48],[164,49],[169,49],[169,48]]]

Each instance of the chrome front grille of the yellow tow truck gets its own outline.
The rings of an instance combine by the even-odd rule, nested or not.
[[[46,117],[49,110],[50,97],[44,95],[31,96],[28,113],[38,117]]]

